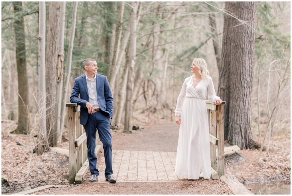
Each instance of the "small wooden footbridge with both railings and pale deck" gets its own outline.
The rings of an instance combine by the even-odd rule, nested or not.
[[[205,100],[208,110],[209,136],[211,150],[211,177],[219,179],[224,175],[224,125],[223,106],[219,106]],[[68,103],[69,117],[69,183],[81,183],[88,172],[86,134],[79,124],[80,106]],[[97,137],[98,138],[98,132]],[[100,145],[96,139],[95,152],[98,153]],[[218,155],[216,156],[216,149]],[[152,182],[152,181],[176,181],[186,179],[183,176],[174,175],[175,152],[152,151],[127,151],[113,150],[113,176],[117,182]],[[98,160],[100,171],[99,181],[104,182],[105,160]],[[104,178],[104,179],[103,179]]]

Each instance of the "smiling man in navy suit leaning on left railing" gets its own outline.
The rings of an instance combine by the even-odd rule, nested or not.
[[[112,135],[110,119],[113,116],[113,97],[105,75],[97,74],[97,63],[94,59],[83,61],[85,74],[75,78],[70,96],[71,103],[80,105],[80,124],[84,126],[87,137],[87,157],[91,178],[89,182],[98,181],[99,171],[95,154],[96,129],[105,156],[105,180],[115,183],[112,176]],[[79,99],[80,94],[80,99]]]

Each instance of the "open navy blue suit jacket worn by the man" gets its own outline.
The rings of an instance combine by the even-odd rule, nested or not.
[[[96,74],[96,92],[97,101],[100,109],[113,116],[113,97],[109,88],[109,82],[105,75]],[[80,99],[79,99],[80,94]],[[89,102],[88,88],[86,83],[85,74],[75,78],[74,86],[70,96],[71,103],[77,103],[80,105],[80,124],[85,125],[88,119],[88,109],[86,108],[86,102]]]

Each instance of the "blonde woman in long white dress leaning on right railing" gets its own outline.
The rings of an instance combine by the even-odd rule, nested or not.
[[[175,175],[210,179],[209,126],[204,100],[207,95],[216,105],[222,100],[215,94],[206,61],[194,58],[191,69],[194,75],[185,79],[175,108],[175,122],[180,125]]]

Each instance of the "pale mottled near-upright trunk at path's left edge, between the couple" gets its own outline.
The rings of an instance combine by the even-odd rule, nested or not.
[[[124,132],[129,133],[132,131],[132,113],[133,113],[133,87],[135,75],[135,61],[136,61],[136,46],[137,46],[137,10],[139,2],[131,2],[130,11],[130,48],[128,60],[128,79],[127,79],[127,95],[125,106],[125,124]]]

